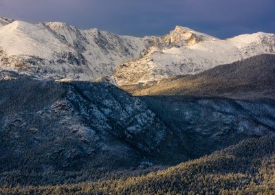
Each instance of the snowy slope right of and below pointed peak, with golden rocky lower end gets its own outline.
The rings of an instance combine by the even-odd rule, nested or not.
[[[180,47],[151,47],[151,52],[142,58],[120,65],[114,78],[119,86],[148,84],[168,76],[199,73],[258,54],[275,54],[275,34],[258,32],[226,40],[189,41]]]

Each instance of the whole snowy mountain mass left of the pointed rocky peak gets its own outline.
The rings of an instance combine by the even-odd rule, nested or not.
[[[140,57],[150,38],[117,36],[65,23],[14,21],[0,30],[0,68],[38,78],[90,80]]]

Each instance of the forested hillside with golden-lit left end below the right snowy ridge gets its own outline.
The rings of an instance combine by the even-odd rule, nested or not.
[[[234,99],[272,98],[275,55],[264,54],[220,65],[195,76],[163,80],[148,87],[124,87],[134,95],[196,95]]]

